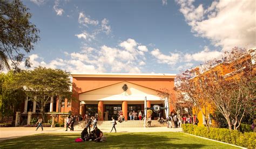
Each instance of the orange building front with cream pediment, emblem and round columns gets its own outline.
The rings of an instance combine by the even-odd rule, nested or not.
[[[76,100],[71,101],[71,110],[76,115],[97,116],[99,120],[117,118],[120,110],[126,120],[130,111],[144,115],[144,98],[147,107],[164,107],[158,92],[166,88],[173,93],[175,77],[176,74],[72,74]],[[123,89],[125,84],[127,90]],[[172,111],[170,106],[169,113]],[[161,116],[165,117],[163,110]]]

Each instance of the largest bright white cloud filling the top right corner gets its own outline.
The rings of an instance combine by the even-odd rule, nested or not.
[[[214,46],[231,50],[234,46],[255,47],[255,1],[212,2],[204,9],[202,4],[196,8],[194,0],[176,2],[180,5],[186,22],[196,36],[210,39]]]

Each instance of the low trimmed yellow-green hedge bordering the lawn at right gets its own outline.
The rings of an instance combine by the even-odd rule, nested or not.
[[[194,134],[196,136],[205,137],[213,140],[223,141],[238,146],[255,148],[256,133],[255,132],[239,132],[221,128],[207,128],[205,126],[196,126],[192,124],[183,124],[183,132]]]

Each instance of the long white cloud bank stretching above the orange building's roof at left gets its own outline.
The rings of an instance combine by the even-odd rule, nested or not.
[[[80,38],[84,37],[80,36]],[[135,40],[127,39],[126,42],[133,45],[131,47],[135,52],[128,51],[127,48],[129,49],[130,46],[127,45],[118,48],[103,45],[99,49],[84,46],[80,52],[64,52],[65,60],[56,58],[50,62],[44,62],[37,54],[30,55],[32,68],[41,65],[68,70],[72,73],[140,73],[140,69],[146,65],[146,62],[142,61],[144,55],[138,53]]]

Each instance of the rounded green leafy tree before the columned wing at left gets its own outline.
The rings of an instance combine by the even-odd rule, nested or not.
[[[70,73],[60,69],[37,67],[34,70],[23,70],[18,78],[28,96],[36,96],[33,101],[38,103],[43,120],[45,105],[50,103],[51,96],[59,99],[64,96],[71,98]]]

